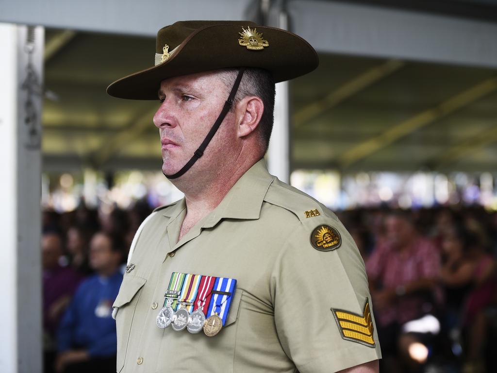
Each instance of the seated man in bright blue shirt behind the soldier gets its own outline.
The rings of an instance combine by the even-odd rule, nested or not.
[[[111,314],[123,279],[122,254],[122,245],[107,233],[92,237],[89,262],[95,275],[80,284],[61,321],[57,372],[115,372],[117,338]]]

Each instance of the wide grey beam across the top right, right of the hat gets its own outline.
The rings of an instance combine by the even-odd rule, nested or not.
[[[375,6],[366,0],[292,0],[287,12],[291,31],[318,52],[497,67],[496,22]],[[487,11],[487,16],[495,13]]]

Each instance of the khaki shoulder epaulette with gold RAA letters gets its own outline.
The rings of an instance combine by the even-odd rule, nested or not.
[[[264,197],[266,202],[291,211],[303,225],[313,225],[317,216],[338,220],[336,215],[325,205],[297,188],[276,180],[271,184]]]

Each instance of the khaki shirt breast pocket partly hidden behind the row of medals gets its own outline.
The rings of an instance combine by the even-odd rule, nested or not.
[[[214,337],[203,331],[190,334],[186,330],[175,332],[169,326],[163,338],[156,373],[171,372],[233,372],[233,359],[237,340],[237,320],[242,289],[236,289],[226,323]]]

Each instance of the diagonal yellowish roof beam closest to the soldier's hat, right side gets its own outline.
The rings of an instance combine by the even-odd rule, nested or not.
[[[388,60],[385,63],[375,66],[372,69],[356,76],[348,82],[342,84],[322,99],[312,102],[293,114],[295,127],[308,123],[310,120],[330,110],[340,102],[375,84],[381,79],[391,75],[405,65],[400,60]]]

